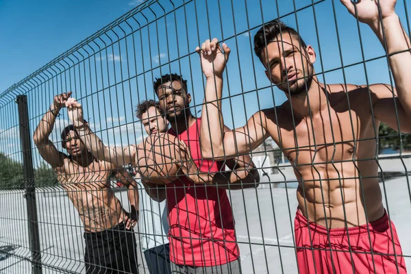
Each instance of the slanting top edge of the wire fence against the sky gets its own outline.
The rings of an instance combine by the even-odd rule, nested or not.
[[[44,71],[49,69],[51,66],[53,66],[57,62],[62,61],[67,56],[71,55],[72,53],[75,53],[75,51],[77,51],[78,49],[81,49],[85,45],[88,45],[88,43],[90,43],[92,40],[95,40],[96,38],[101,36],[101,34],[104,34],[105,32],[108,32],[108,30],[112,29],[113,27],[116,27],[116,26],[120,25],[121,23],[125,22],[128,18],[134,16],[135,14],[138,14],[142,10],[145,10],[146,8],[148,8],[153,3],[156,3],[156,2],[158,2],[158,0],[143,1],[142,3],[140,3],[140,5],[137,5],[136,8],[133,8],[129,12],[126,12],[125,14],[120,16],[119,18],[116,18],[114,21],[112,21],[108,25],[105,25],[105,27],[102,27],[97,32],[95,32],[94,34],[88,36],[88,38],[82,40],[77,45],[75,45],[74,47],[69,49],[68,51],[65,51],[64,53],[58,55],[56,58],[54,58],[53,60],[51,60],[50,62],[48,62],[44,66],[42,66],[40,69],[38,69],[37,71],[34,71],[34,73],[28,75],[27,77],[23,78],[21,81],[19,81],[16,84],[13,84],[12,86],[10,86],[10,88],[8,88],[8,89],[4,90],[3,92],[1,92],[0,93],[0,99],[2,99],[3,97],[5,97],[5,95],[8,95],[10,93],[14,94],[14,92],[16,92],[17,88],[20,88],[21,86],[23,86],[23,84],[29,82],[30,79],[33,79],[37,75],[40,75],[40,73],[43,73]],[[16,92],[16,93],[17,94],[14,94],[14,95],[18,95],[20,92]]]

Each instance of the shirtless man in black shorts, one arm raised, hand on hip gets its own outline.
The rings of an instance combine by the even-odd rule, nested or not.
[[[126,171],[93,157],[73,125],[62,131],[62,147],[67,154],[58,151],[49,140],[55,118],[70,95],[71,92],[54,97],[34,132],[34,142],[42,158],[57,174],[58,182],[66,190],[84,224],[86,273],[136,274],[138,265],[133,232],[138,220],[136,182]],[[112,173],[116,173],[128,188],[131,214],[125,212],[110,188],[108,179]]]

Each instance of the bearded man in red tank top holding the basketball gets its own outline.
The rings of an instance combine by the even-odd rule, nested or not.
[[[181,76],[162,75],[155,80],[154,90],[170,122],[169,134],[186,143],[200,171],[212,174],[212,182],[204,185],[194,184],[187,177],[166,185],[172,272],[240,273],[240,253],[226,189],[256,188],[258,171],[249,155],[224,163],[202,159],[201,119],[190,112],[191,96]],[[225,165],[229,171],[225,171]]]

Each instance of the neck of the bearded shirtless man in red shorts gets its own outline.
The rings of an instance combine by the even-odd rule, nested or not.
[[[327,95],[325,94],[324,84],[317,82],[316,79],[312,82],[310,90],[306,95],[290,97],[292,111],[300,117],[308,117],[321,112],[327,108]]]

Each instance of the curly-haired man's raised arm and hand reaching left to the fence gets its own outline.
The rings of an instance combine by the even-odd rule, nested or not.
[[[84,142],[86,148],[92,155],[101,161],[110,162],[115,166],[125,166],[126,164],[134,165],[134,155],[136,149],[134,146],[129,147],[107,147],[96,134],[94,134],[83,118],[82,104],[74,98],[66,101],[66,107],[69,109],[69,118],[73,123],[79,138]]]

